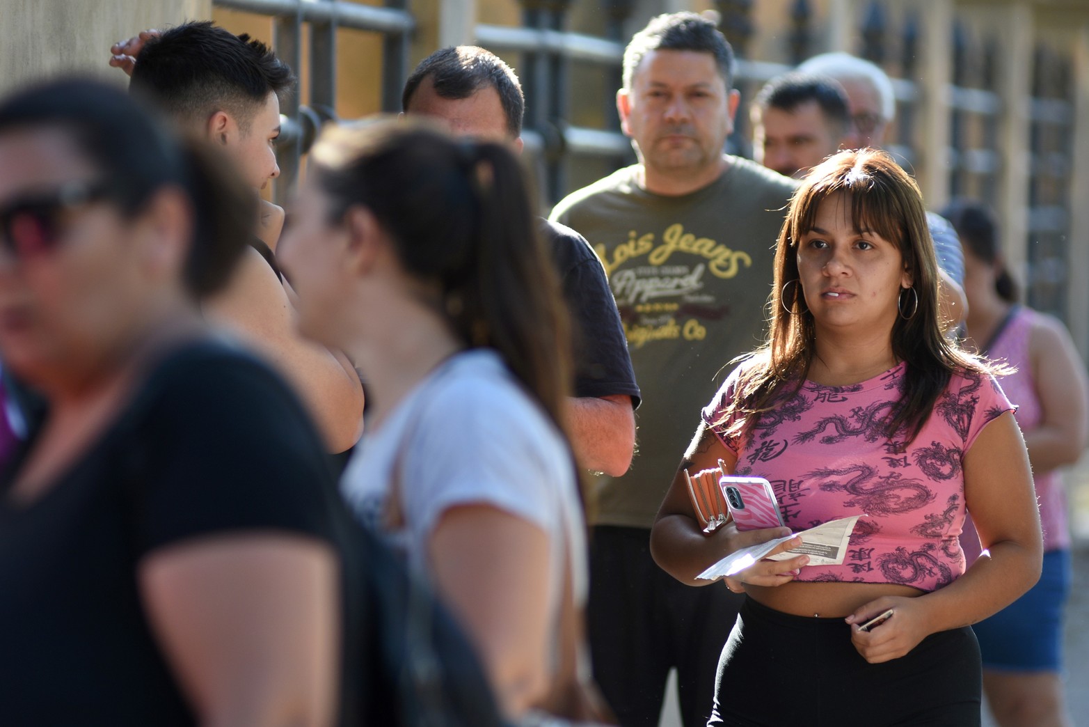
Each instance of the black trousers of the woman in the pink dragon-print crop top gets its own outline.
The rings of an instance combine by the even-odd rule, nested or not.
[[[719,663],[708,727],[979,727],[982,676],[969,627],[869,664],[842,618],[791,616],[750,598]]]

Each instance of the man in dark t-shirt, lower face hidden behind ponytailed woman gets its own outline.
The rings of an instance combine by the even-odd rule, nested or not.
[[[403,109],[441,121],[458,135],[522,149],[522,85],[499,57],[475,46],[443,48],[405,84]],[[541,220],[575,328],[575,397],[567,428],[579,464],[619,476],[635,448],[639,387],[601,260],[574,230]]]

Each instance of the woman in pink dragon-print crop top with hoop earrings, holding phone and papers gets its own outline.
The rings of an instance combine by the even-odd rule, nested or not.
[[[969,625],[1036,582],[1040,523],[1014,407],[988,364],[942,336],[937,280],[918,186],[889,155],[837,154],[795,193],[768,342],[705,409],[651,552],[706,585],[697,574],[734,550],[865,517],[842,565],[800,555],[726,579],[747,598],[709,725],[980,723]],[[705,533],[684,470],[720,459],[769,480],[788,528]],[[966,508],[990,549],[968,570]]]

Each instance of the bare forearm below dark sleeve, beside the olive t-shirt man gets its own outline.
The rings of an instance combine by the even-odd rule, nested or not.
[[[613,477],[627,472],[635,452],[632,397],[572,397],[567,402],[571,446],[579,465]]]

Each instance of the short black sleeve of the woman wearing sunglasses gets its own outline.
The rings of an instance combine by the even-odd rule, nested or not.
[[[137,422],[137,549],[240,530],[332,540],[332,473],[279,377],[227,349],[168,365]]]

